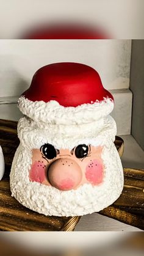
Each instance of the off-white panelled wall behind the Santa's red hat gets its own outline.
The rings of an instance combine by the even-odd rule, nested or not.
[[[0,118],[19,119],[17,98],[38,68],[54,62],[81,62],[95,68],[115,98],[118,134],[131,132],[131,40],[0,40]]]

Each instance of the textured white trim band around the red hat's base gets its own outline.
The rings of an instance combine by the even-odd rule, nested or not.
[[[18,100],[20,111],[35,122],[52,124],[81,124],[90,123],[106,117],[113,110],[113,101],[104,98],[92,104],[82,104],[77,107],[64,107],[57,101],[31,101],[21,96]]]

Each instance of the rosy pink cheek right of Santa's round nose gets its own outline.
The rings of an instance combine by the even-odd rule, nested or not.
[[[98,185],[103,181],[103,165],[98,160],[91,161],[86,167],[85,177],[93,185]]]

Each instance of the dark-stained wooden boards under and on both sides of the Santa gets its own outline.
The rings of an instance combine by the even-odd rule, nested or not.
[[[10,196],[9,174],[15,150],[20,141],[16,132],[17,122],[0,120],[0,145],[5,159],[5,174],[0,182],[0,230],[61,231],[74,230],[81,218],[45,216],[35,213]],[[115,146],[123,153],[123,140],[116,136]],[[129,225],[144,229],[144,171],[124,169],[124,189],[119,199],[110,207],[100,211]]]

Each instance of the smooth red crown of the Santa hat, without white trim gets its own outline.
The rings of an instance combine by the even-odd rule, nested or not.
[[[56,100],[65,107],[102,101],[104,97],[113,100],[110,92],[104,89],[96,70],[73,62],[50,64],[40,68],[23,95],[31,101]]]

